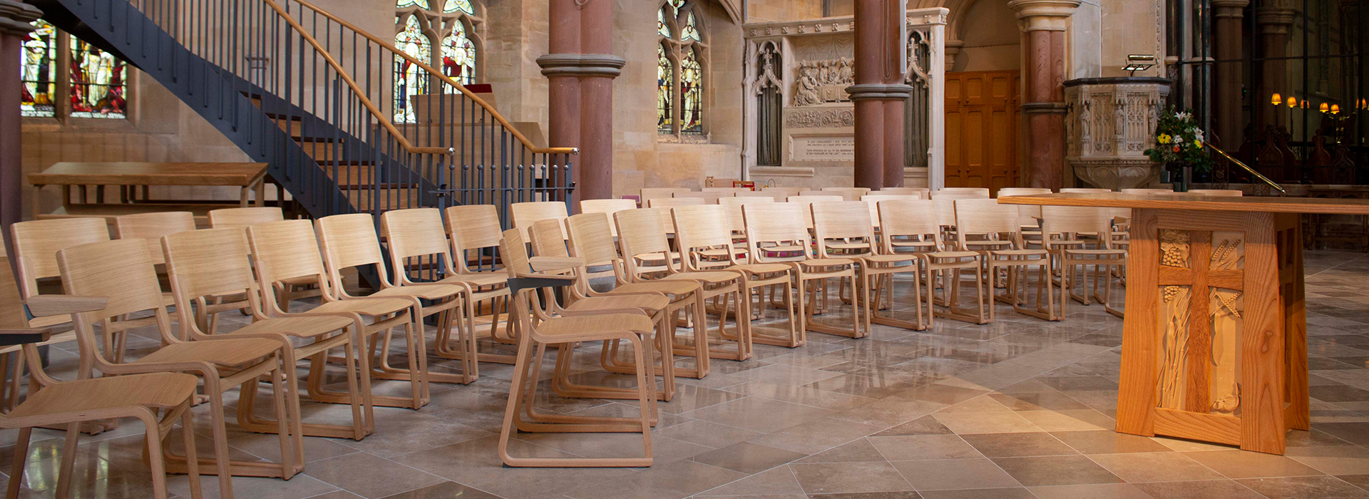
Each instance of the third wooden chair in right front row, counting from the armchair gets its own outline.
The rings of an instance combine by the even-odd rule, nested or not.
[[[667,308],[667,314],[669,319],[669,332],[664,340],[669,345],[675,345],[675,317],[683,310],[693,310],[691,320],[694,324],[706,324],[706,316],[704,314],[704,286],[697,282],[689,280],[648,280],[648,282],[628,282],[627,268],[623,264],[623,258],[619,257],[617,249],[613,243],[613,237],[609,235],[609,223],[593,213],[580,213],[565,219],[565,231],[571,235],[568,241],[570,254],[579,258],[585,264],[585,269],[576,272],[576,284],[571,288],[575,298],[580,297],[605,297],[615,294],[643,294],[643,293],[658,293],[671,298],[671,304]],[[596,280],[611,280],[615,286],[612,290],[598,291],[594,288],[591,279]],[[674,351],[675,349],[661,349],[663,355],[667,350]],[[694,343],[694,351],[691,357],[698,360],[694,369],[680,369],[675,368],[674,375],[690,376],[695,379],[702,379],[708,376],[709,362],[708,362],[708,345]],[[613,351],[605,350],[601,362],[613,372],[624,372],[626,368],[617,362]],[[674,366],[674,365],[672,365]],[[664,369],[663,369],[664,375]],[[672,376],[671,376],[672,377]],[[669,379],[668,379],[669,380]],[[672,396],[674,386],[671,383],[665,384],[667,394],[663,399],[668,401]]]

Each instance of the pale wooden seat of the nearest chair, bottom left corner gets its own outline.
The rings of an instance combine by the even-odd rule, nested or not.
[[[146,406],[171,409],[194,395],[200,379],[186,373],[146,373],[62,381],[29,395],[5,418]]]

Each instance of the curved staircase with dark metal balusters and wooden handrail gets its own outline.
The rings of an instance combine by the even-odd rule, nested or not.
[[[534,146],[428,62],[307,1],[29,1],[270,164],[314,217],[493,204],[507,224],[509,204],[570,202],[575,149]],[[396,98],[396,79],[427,97]]]

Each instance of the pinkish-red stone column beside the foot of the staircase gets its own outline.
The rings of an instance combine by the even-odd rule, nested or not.
[[[572,200],[613,197],[613,78],[623,57],[613,51],[612,0],[550,0],[550,53],[537,57],[550,81],[548,139],[579,148]]]

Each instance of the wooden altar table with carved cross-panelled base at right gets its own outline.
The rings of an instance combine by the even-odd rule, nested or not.
[[[1298,213],[1369,200],[1047,194],[1002,204],[1131,208],[1117,432],[1283,454],[1310,429]]]

